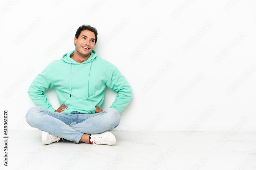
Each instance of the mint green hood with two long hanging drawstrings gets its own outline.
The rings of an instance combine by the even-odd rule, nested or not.
[[[95,57],[97,57],[96,51],[92,50],[90,57],[88,58],[88,60],[82,62],[82,63],[78,63],[76,61],[74,61],[72,58],[70,58],[70,56],[74,55],[75,50],[70,51],[69,53],[66,53],[62,56],[62,60],[65,61],[66,63],[70,64],[70,90],[69,90],[69,94],[71,97],[71,77],[72,77],[72,64],[87,64],[90,63],[90,70],[89,70],[89,76],[88,76],[88,94],[87,94],[87,101],[89,100],[89,80],[90,80],[90,72],[91,72],[91,66],[92,66],[92,61],[94,60]],[[83,66],[83,65],[82,65]]]

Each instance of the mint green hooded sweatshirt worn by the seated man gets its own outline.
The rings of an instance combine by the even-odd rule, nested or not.
[[[54,86],[60,105],[64,103],[68,107],[62,113],[95,113],[95,106],[101,108],[108,86],[117,94],[110,108],[120,113],[132,98],[131,87],[124,76],[113,64],[98,57],[94,50],[83,63],[71,59],[73,54],[74,50],[52,61],[36,76],[28,89],[32,101],[37,107],[55,111],[44,94]]]

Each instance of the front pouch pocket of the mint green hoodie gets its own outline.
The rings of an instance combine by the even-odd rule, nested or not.
[[[95,106],[89,100],[67,100],[64,102],[68,108],[62,113],[80,112],[84,114],[95,113]]]

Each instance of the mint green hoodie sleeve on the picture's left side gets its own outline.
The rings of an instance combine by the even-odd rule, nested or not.
[[[28,95],[37,107],[55,111],[47,100],[46,94],[44,94],[44,91],[52,86],[53,84],[47,66],[40,74],[36,76],[28,88]]]

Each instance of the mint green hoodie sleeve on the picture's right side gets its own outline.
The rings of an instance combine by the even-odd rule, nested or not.
[[[122,109],[129,104],[132,98],[132,89],[125,77],[114,65],[112,66],[106,86],[111,90],[116,91],[115,101],[110,108],[113,108],[120,113]]]

